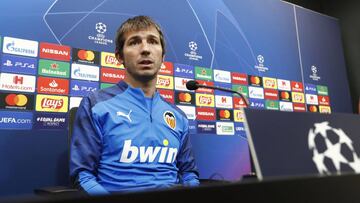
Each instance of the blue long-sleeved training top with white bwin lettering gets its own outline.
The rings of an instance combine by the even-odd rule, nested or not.
[[[71,140],[70,176],[87,193],[198,185],[188,120],[158,92],[121,81],[84,97]]]

